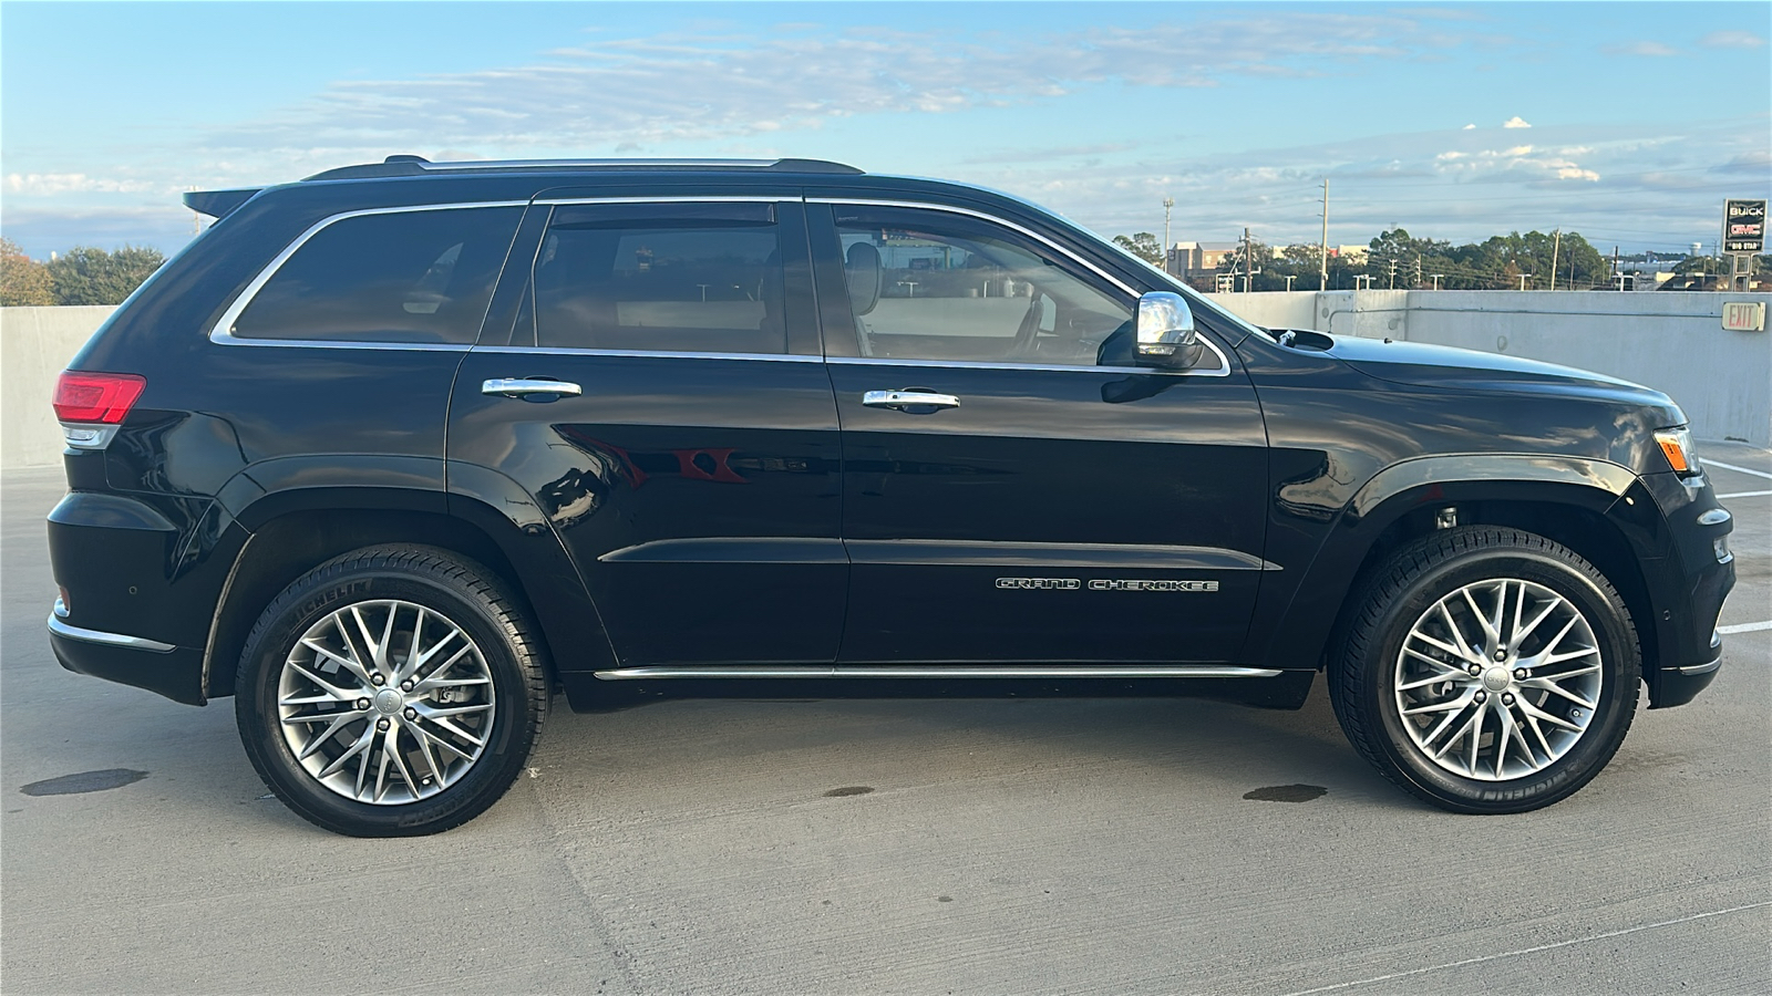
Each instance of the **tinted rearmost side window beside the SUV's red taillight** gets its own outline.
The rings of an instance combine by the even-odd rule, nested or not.
[[[521,216],[521,207],[455,207],[333,222],[284,261],[232,333],[468,346]]]

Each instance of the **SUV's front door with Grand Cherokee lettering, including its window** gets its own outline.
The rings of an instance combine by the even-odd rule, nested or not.
[[[1132,367],[1136,292],[1024,229],[810,216],[820,294],[849,301],[824,330],[852,564],[840,661],[1233,661],[1267,452],[1230,349]]]

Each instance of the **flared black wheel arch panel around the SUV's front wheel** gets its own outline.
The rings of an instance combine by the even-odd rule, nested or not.
[[[1391,525],[1411,512],[1506,502],[1565,505],[1607,516],[1636,480],[1628,468],[1591,457],[1449,454],[1395,463],[1368,479],[1331,517],[1310,562],[1262,576],[1244,659],[1272,668],[1320,666],[1366,555]],[[1637,558],[1655,556],[1653,549],[1644,549],[1650,541],[1641,530],[1628,532],[1637,533],[1632,537]]]

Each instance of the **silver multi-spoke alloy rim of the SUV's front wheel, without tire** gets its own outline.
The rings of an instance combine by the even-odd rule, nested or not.
[[[1396,654],[1403,730],[1439,767],[1504,782],[1554,764],[1593,721],[1600,647],[1574,603],[1517,578],[1434,603]]]

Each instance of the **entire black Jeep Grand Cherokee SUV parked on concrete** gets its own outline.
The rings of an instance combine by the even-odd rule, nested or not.
[[[555,691],[1205,695],[1327,672],[1520,812],[1717,672],[1662,393],[1255,328],[1012,197],[812,160],[395,156],[216,218],[62,376],[71,670],[232,695],[298,813],[486,810]]]

